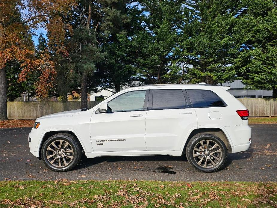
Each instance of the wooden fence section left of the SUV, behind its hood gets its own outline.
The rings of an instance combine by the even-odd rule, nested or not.
[[[88,108],[100,101],[87,101]],[[7,102],[8,119],[36,119],[38,117],[81,108],[81,101]]]

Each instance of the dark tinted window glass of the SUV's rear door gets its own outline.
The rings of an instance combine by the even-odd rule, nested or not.
[[[153,110],[185,108],[182,90],[153,90]]]

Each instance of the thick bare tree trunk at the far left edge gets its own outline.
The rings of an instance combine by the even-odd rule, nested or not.
[[[3,67],[0,69],[0,120],[7,119],[7,76]]]

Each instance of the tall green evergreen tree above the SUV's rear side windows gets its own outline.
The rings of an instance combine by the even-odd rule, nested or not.
[[[194,0],[187,1],[186,8],[189,13],[184,16],[184,27],[174,50],[178,57],[175,65],[180,65],[182,76],[188,73],[186,79],[190,82],[213,85],[234,80],[236,71],[232,64],[238,46],[232,28],[240,8],[237,1]]]

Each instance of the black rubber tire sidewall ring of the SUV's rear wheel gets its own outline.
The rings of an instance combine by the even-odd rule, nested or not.
[[[212,168],[203,168],[201,167],[200,165],[198,165],[193,157],[193,149],[195,147],[195,145],[199,142],[199,141],[202,141],[202,140],[205,140],[205,139],[209,139],[211,141],[214,141],[216,142],[221,150],[222,150],[222,156],[221,156],[221,161],[215,166],[215,167],[212,167]],[[196,168],[198,169],[199,171],[203,171],[203,172],[215,172],[215,171],[219,171],[222,166],[224,165],[224,163],[226,162],[226,157],[227,157],[227,148],[224,144],[224,142],[218,138],[217,136],[215,135],[199,135],[195,138],[193,138],[191,140],[191,143],[189,145],[189,149],[188,149],[188,155],[189,155],[189,159],[190,159],[190,163]]]

